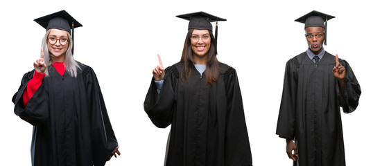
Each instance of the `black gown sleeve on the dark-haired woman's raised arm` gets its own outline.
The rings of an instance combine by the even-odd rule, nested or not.
[[[157,86],[152,77],[148,93],[144,101],[144,110],[148,114],[153,124],[159,128],[166,128],[171,124],[172,113],[175,102],[175,84],[177,82],[178,72],[175,66],[166,68],[166,75],[162,89],[157,94]]]

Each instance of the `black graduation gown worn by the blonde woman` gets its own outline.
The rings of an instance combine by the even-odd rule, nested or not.
[[[34,71],[24,75],[12,98],[15,114],[34,125],[33,165],[105,165],[118,146],[92,68],[80,64],[78,76],[53,66],[26,108],[22,93]]]

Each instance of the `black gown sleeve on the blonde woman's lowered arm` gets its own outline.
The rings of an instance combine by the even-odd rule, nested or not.
[[[96,74],[92,68],[88,67],[83,75],[85,75],[89,107],[92,111],[91,136],[94,165],[105,165],[112,156],[112,151],[118,146],[118,142],[107,114]]]

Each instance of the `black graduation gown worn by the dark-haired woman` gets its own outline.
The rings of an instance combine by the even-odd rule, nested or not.
[[[252,165],[236,71],[219,65],[220,75],[212,86],[196,68],[184,82],[183,64],[166,68],[158,98],[152,79],[144,109],[155,126],[172,124],[166,165]]]

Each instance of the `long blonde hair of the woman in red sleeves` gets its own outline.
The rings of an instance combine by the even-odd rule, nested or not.
[[[51,29],[46,30],[46,33],[42,39],[42,48],[44,50],[44,62],[46,62],[46,76],[49,76],[49,67],[52,64],[52,58],[51,55],[49,55],[48,50],[48,35],[51,33]],[[76,77],[78,75],[77,71],[78,68],[80,68],[78,62],[76,62],[75,59],[73,59],[73,53],[71,52],[71,48],[73,46],[73,41],[71,39],[71,35],[69,32],[67,32],[67,36],[69,37],[69,47],[66,50],[65,57],[64,57],[64,67],[66,68],[67,72],[70,73],[72,77]]]

